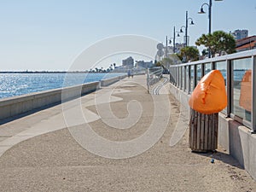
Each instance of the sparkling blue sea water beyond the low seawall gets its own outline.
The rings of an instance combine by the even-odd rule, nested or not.
[[[20,96],[75,84],[109,79],[124,73],[0,73],[0,98]]]

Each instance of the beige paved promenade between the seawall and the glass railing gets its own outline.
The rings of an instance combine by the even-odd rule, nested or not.
[[[169,94],[168,86],[153,96],[145,89],[146,76],[126,78],[81,100],[0,125],[0,191],[256,191],[253,178],[221,146],[214,154],[191,153],[188,130],[181,134],[189,114]],[[77,102],[85,119],[79,119]],[[148,133],[154,120],[163,136]],[[146,133],[150,141],[160,139],[142,154],[111,159],[132,154],[132,149],[113,153],[106,146],[101,151],[96,138],[90,137],[92,152],[109,158],[90,153],[71,134],[86,125],[116,143],[132,145]],[[174,140],[181,139],[171,147],[173,135]],[[134,150],[148,143],[139,143]]]

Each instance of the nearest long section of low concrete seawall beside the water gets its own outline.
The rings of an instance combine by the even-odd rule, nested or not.
[[[80,84],[67,88],[46,90],[37,93],[14,96],[0,100],[0,120],[14,117],[33,109],[42,108],[61,101],[68,101],[100,88],[100,82]],[[61,100],[62,99],[62,100]]]

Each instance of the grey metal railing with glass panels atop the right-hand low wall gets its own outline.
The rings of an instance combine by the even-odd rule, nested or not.
[[[170,66],[170,82],[190,94],[201,77],[218,69],[224,76],[228,106],[222,113],[256,133],[256,50]]]

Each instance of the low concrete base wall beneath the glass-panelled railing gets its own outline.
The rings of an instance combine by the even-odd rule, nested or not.
[[[170,93],[184,108],[189,108],[189,95],[170,84]],[[218,143],[256,180],[256,135],[234,119],[218,113]]]

